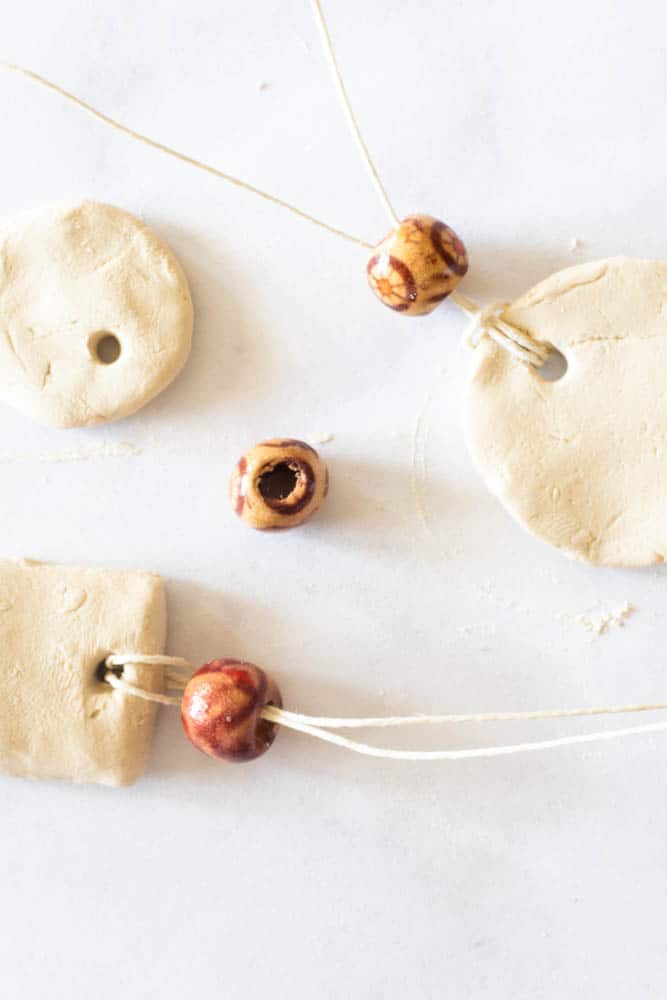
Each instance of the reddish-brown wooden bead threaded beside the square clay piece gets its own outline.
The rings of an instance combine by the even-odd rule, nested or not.
[[[212,660],[192,675],[183,692],[181,720],[197,750],[242,762],[269,749],[277,726],[261,716],[282,707],[280,691],[263,670],[243,660]]]

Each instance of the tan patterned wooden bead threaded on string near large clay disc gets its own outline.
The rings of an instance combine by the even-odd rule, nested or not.
[[[453,229],[430,215],[410,215],[375,250],[368,283],[390,309],[423,316],[453,292],[468,254]]]

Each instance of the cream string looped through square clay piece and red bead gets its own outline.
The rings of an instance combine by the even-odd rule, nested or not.
[[[180,705],[181,696],[159,694],[147,691],[131,684],[123,677],[114,673],[114,669],[123,666],[161,666],[187,669],[193,667],[178,656],[144,656],[139,653],[113,654],[107,657],[109,670],[105,680],[116,690],[145,701],[153,701],[159,705]],[[178,676],[167,670],[167,687],[182,690],[187,684],[187,678]],[[548,750],[561,746],[575,746],[583,743],[595,743],[601,740],[619,739],[624,736],[640,735],[642,733],[659,733],[667,731],[667,722],[655,722],[644,726],[631,726],[624,729],[607,729],[595,733],[579,733],[575,736],[558,736],[549,740],[538,740],[531,743],[515,743],[502,746],[475,747],[469,750],[392,750],[385,747],[375,747],[368,743],[359,743],[346,736],[332,733],[332,729],[381,729],[395,726],[441,725],[443,723],[465,722],[522,722],[544,719],[573,719],[594,715],[630,715],[638,712],[659,712],[667,709],[667,702],[639,703],[633,705],[611,705],[593,708],[547,709],[532,712],[472,712],[466,714],[445,715],[390,715],[368,716],[366,718],[337,718],[332,716],[303,715],[300,712],[290,712],[284,708],[267,705],[262,710],[262,718],[276,725],[285,726],[306,736],[333,743],[353,753],[369,757],[383,757],[388,760],[469,760],[475,757],[501,757],[509,754],[531,753],[536,750]]]

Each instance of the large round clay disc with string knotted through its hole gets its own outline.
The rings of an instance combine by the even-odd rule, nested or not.
[[[589,563],[667,553],[667,264],[571,267],[504,318],[565,356],[548,382],[484,340],[468,390],[470,449],[532,534]]]

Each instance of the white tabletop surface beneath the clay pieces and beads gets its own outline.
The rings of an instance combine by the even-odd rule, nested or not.
[[[458,230],[470,294],[665,256],[661,5],[327,6],[397,209]],[[0,14],[1,57],[366,239],[387,230],[305,0],[0,0]],[[173,247],[196,308],[187,368],[134,418],[58,432],[2,409],[3,556],[160,572],[170,651],[254,660],[293,708],[665,698],[665,574],[567,561],[472,470],[453,306],[392,314],[366,288],[363,251],[8,74],[0,135],[0,218],[83,197],[129,209]],[[411,489],[420,412],[431,533]],[[237,522],[239,454],[325,433],[321,515],[289,534]],[[104,457],[120,442],[137,453]],[[638,610],[624,630],[598,638],[576,620],[626,600]],[[658,736],[412,765],[282,733],[235,768],[198,755],[164,710],[130,790],[0,779],[0,994],[662,997],[666,748]]]

